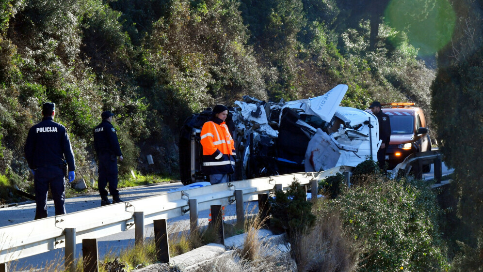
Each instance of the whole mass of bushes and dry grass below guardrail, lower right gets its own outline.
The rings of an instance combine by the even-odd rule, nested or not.
[[[297,181],[270,200],[298,271],[448,271],[443,210],[428,183],[388,179],[372,160],[353,173],[351,188],[341,174],[322,180],[317,202]]]

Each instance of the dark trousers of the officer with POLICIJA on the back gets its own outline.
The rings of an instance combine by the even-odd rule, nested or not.
[[[65,180],[60,166],[42,166],[35,169],[33,179],[35,189],[35,219],[47,217],[48,186],[54,199],[55,215],[65,214]]]

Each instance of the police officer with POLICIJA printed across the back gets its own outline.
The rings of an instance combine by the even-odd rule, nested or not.
[[[35,189],[35,219],[47,217],[48,186],[54,199],[55,215],[65,214],[66,165],[69,166],[69,182],[75,179],[76,165],[65,127],[54,122],[55,104],[44,103],[41,122],[32,126],[27,136],[24,152],[33,174]]]

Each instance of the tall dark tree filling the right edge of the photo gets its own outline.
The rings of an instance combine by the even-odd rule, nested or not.
[[[455,270],[483,270],[483,26],[482,1],[454,3],[452,43],[438,54],[431,87],[432,115],[441,151],[454,167],[445,233],[456,254]],[[449,110],[451,109],[451,110]]]

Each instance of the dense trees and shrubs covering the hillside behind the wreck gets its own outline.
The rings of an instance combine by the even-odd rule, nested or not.
[[[344,106],[430,101],[434,72],[406,35],[381,24],[369,50],[369,17],[349,21],[349,1],[0,3],[0,171],[17,184],[28,178],[22,148],[46,101],[70,133],[79,176],[103,110],[116,114],[122,172],[176,175],[180,124],[215,101],[301,99],[339,83],[350,86]]]

